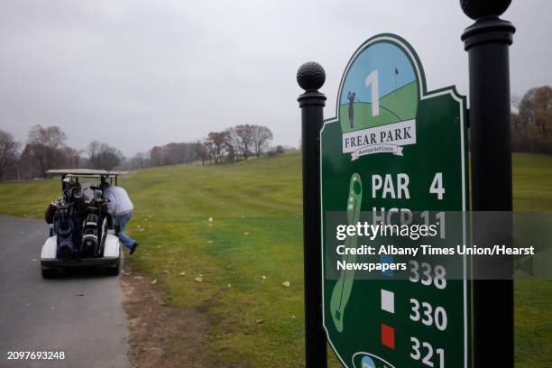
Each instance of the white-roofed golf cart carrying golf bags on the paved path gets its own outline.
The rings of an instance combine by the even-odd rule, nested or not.
[[[118,275],[122,255],[115,235],[113,216],[107,211],[102,184],[117,185],[123,172],[107,170],[48,170],[61,178],[60,198],[47,210],[50,237],[42,245],[43,278],[57,275],[60,269],[102,268]],[[80,181],[88,180],[82,184]],[[49,211],[51,221],[49,221]]]

